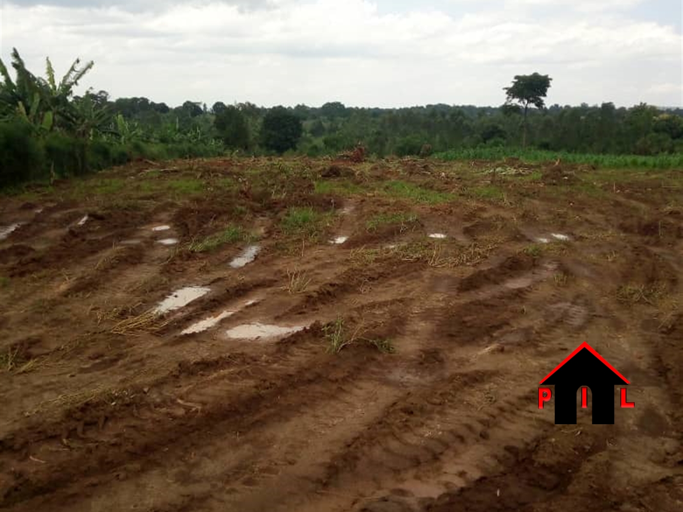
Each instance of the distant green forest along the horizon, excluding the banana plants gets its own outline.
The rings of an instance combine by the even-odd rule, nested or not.
[[[204,129],[229,148],[256,154],[273,149],[262,133],[263,120],[273,109],[251,103],[226,106],[217,102],[208,108],[185,102],[169,109],[146,98],[120,98],[111,102],[111,107],[135,123],[150,142],[162,141],[163,127],[178,121],[186,130]],[[227,116],[226,109],[232,111]],[[519,147],[522,143],[522,115],[510,105],[363,109],[330,102],[284,110],[303,127],[301,139],[287,149],[309,156],[335,154],[357,144],[381,157],[419,155],[430,148],[442,152],[482,145]],[[541,150],[639,155],[683,152],[683,109],[662,111],[646,104],[628,109],[612,103],[553,105],[529,111],[527,130],[527,144]]]

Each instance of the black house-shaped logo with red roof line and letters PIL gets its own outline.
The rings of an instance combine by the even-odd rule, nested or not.
[[[581,389],[581,407],[587,408],[588,388],[593,402],[594,425],[614,425],[614,386],[630,384],[588,343],[582,343],[548,373],[540,384],[555,385],[555,424],[576,425],[576,390]],[[550,400],[550,388],[538,388],[538,408]],[[626,401],[626,388],[621,389],[622,408],[632,408]]]

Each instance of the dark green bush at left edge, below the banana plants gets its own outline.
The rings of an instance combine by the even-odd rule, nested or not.
[[[0,123],[0,187],[42,177],[43,154],[24,122]]]

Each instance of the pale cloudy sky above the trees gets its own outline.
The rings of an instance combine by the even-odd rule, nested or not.
[[[683,106],[682,0],[0,0],[0,56],[80,90],[263,106],[497,106],[517,74],[546,104]]]

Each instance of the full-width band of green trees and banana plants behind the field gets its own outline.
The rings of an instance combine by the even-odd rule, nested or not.
[[[12,68],[14,78],[0,61],[0,186],[76,175],[135,158],[232,152],[324,156],[357,145],[378,157],[428,156],[447,150],[504,152],[522,145],[522,110],[510,102],[403,109],[329,102],[266,109],[249,102],[207,106],[188,100],[171,107],[148,98],[113,100],[106,91],[74,95],[92,62],[77,60],[57,81],[49,60],[42,78],[29,72],[14,50]],[[528,147],[551,152],[683,154],[683,109],[553,105],[529,109],[526,131]]]

